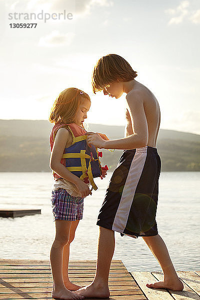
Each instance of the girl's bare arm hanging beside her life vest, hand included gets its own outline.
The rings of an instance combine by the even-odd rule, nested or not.
[[[69,137],[70,133],[67,129],[60,128],[57,130],[50,155],[49,166],[60,177],[74,183],[81,197],[86,197],[89,193],[91,193],[88,185],[80,180],[80,178],[78,178],[76,175],[67,170],[67,168],[60,162],[66,142],[68,141]]]

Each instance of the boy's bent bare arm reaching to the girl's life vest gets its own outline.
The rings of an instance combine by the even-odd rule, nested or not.
[[[104,149],[134,149],[144,147],[148,141],[148,126],[143,107],[142,95],[132,92],[126,95],[129,106],[130,118],[133,126],[133,134],[124,138],[104,140],[98,133],[88,135],[87,142],[98,148]]]

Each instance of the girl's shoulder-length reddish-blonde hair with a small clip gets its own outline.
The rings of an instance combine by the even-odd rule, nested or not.
[[[49,122],[54,124],[57,122],[65,124],[73,123],[78,106],[83,98],[90,101],[88,94],[81,89],[68,87],[62,90],[53,103],[48,118]]]

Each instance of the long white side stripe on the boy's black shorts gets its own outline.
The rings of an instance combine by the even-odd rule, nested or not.
[[[147,146],[142,148],[136,148],[123,187],[123,192],[118,205],[118,209],[114,217],[112,230],[122,233],[123,230],[125,229],[130,207],[132,205],[134,193],[145,163],[146,155],[147,155]]]

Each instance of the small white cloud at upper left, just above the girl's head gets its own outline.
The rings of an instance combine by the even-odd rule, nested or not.
[[[44,47],[54,47],[60,45],[69,45],[74,37],[73,32],[67,32],[66,34],[60,33],[58,30],[53,30],[50,34],[42,36],[39,39],[38,45]]]

